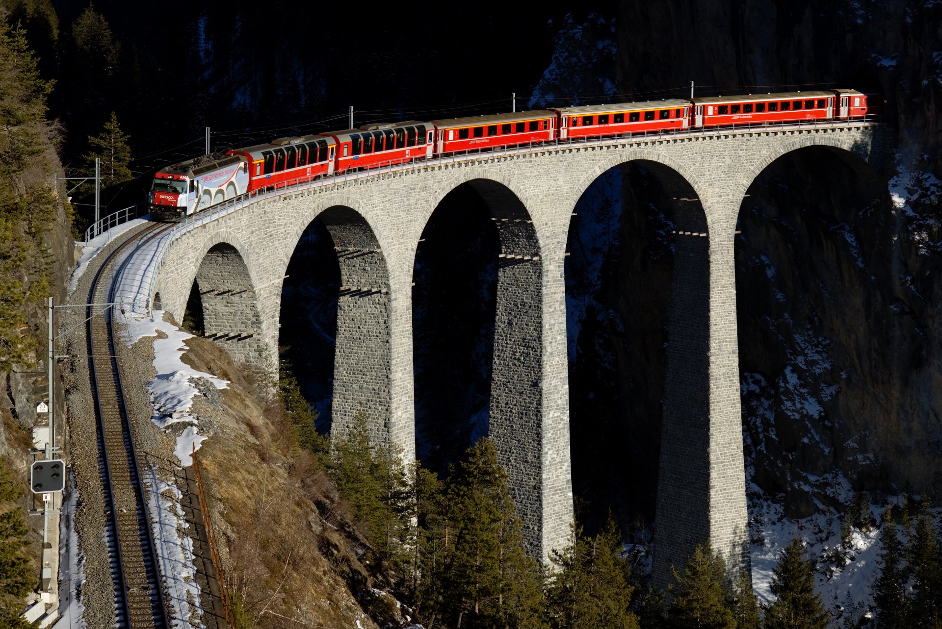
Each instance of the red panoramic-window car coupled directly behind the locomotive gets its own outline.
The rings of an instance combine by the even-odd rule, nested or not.
[[[279,137],[227,151],[249,159],[249,191],[294,184],[333,172],[336,142],[331,137]]]

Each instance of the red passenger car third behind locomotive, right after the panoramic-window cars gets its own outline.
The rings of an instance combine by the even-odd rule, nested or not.
[[[547,109],[431,123],[435,125],[435,152],[439,154],[556,138],[556,114]]]

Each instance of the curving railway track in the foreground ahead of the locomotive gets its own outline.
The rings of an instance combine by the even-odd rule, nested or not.
[[[148,227],[112,251],[91,283],[89,304],[113,301],[113,279],[121,269],[122,252],[141,238],[153,238],[170,227]],[[134,434],[122,391],[112,309],[92,316],[94,308],[89,306],[86,313],[89,375],[98,424],[115,624],[129,629],[170,629]]]

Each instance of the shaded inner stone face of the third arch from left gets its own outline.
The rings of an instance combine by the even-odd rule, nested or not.
[[[488,175],[493,174],[495,178]],[[467,169],[442,185],[423,231],[448,194],[467,186],[487,207],[499,241],[496,260],[494,345],[487,435],[511,478],[524,537],[534,556],[543,543],[544,316],[540,239],[526,195],[500,173]],[[417,248],[416,248],[417,255]],[[567,470],[568,473],[568,470]]]

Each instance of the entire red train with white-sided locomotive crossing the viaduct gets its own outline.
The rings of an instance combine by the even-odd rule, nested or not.
[[[575,137],[608,137],[744,124],[849,120],[880,113],[876,94],[854,89],[795,91],[521,111],[280,137],[174,164],[154,175],[152,214],[187,216],[260,188],[310,181],[469,150]]]

